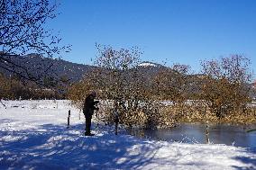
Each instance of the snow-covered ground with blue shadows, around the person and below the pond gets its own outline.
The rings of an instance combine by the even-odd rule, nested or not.
[[[255,148],[115,136],[103,125],[85,137],[83,115],[69,101],[3,103],[0,169],[256,169]]]

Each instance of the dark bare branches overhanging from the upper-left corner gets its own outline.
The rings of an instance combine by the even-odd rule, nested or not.
[[[63,50],[69,50],[69,47],[59,47],[61,39],[45,27],[50,19],[56,17],[57,6],[56,1],[49,0],[1,0],[0,67],[41,84],[41,77],[51,65],[39,67],[39,73],[33,76],[28,67],[14,62],[13,58],[22,59],[28,53],[52,58],[58,57]]]

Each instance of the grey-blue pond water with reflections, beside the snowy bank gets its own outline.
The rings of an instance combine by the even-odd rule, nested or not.
[[[254,126],[255,127],[255,126]],[[234,125],[180,124],[171,130],[133,130],[135,136],[184,143],[214,143],[235,147],[256,148],[256,131]]]

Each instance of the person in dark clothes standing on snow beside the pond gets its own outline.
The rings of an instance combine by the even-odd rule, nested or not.
[[[86,136],[93,136],[94,134],[91,133],[91,121],[94,111],[98,110],[98,107],[96,107],[96,104],[99,103],[99,101],[95,101],[96,98],[96,92],[91,92],[87,95],[87,98],[84,103],[83,107],[83,113],[86,118]]]

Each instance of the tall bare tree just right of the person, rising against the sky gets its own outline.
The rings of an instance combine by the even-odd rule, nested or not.
[[[146,92],[143,91],[143,84],[140,81],[142,73],[137,68],[141,63],[142,52],[136,47],[113,49],[96,45],[96,48],[98,49],[96,66],[99,69],[94,73],[96,77],[94,82],[102,96],[112,101],[108,103],[109,113],[106,117],[114,120],[113,112],[118,112],[122,124],[133,126],[142,123],[146,120],[142,111]]]

